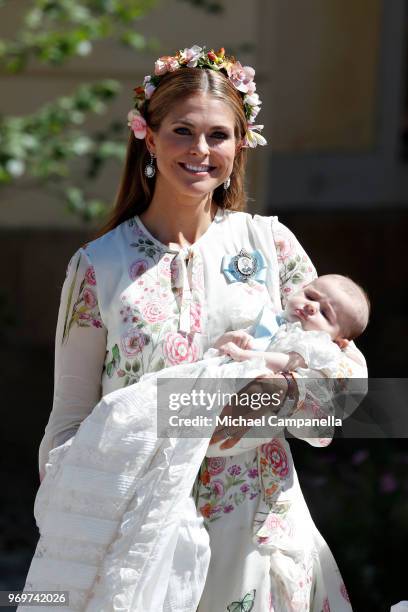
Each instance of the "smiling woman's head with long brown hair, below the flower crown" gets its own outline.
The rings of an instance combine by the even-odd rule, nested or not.
[[[145,91],[150,93],[149,81]],[[255,108],[259,108],[259,98],[252,93],[252,96],[255,95],[255,101],[258,102]],[[97,236],[133,215],[141,215],[147,208],[150,209],[152,198],[166,184],[177,185],[176,193],[182,189],[188,197],[197,198],[201,194],[202,204],[207,202],[207,207],[208,191],[206,194],[205,189],[210,188],[213,190],[212,201],[215,205],[231,210],[245,208],[248,120],[242,95],[230,79],[226,79],[220,71],[197,70],[185,66],[183,70],[163,74],[154,95],[144,97],[138,106],[147,127],[140,133],[143,139],[135,138],[133,131],[130,133],[116,205]],[[205,116],[201,115],[202,111]],[[140,114],[136,115],[137,126],[139,121]],[[132,122],[129,124],[131,126]],[[165,143],[169,146],[169,152],[164,150]],[[149,179],[145,168],[152,162],[150,153],[155,152],[159,173]],[[194,170],[188,171],[183,167],[183,164],[188,163],[195,168],[201,164],[214,165],[214,170],[206,169],[204,173],[193,174]],[[172,173],[175,173],[174,177]],[[188,189],[187,177],[190,178]],[[194,181],[191,181],[192,177]],[[224,189],[225,181],[228,189]],[[171,206],[168,192],[163,195],[167,206]],[[184,200],[182,204],[188,205]],[[175,209],[177,206],[174,206]],[[213,217],[214,209],[211,212]],[[148,222],[146,218],[144,220]]]

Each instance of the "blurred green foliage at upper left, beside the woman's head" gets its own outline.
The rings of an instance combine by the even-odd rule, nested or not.
[[[7,4],[0,0],[0,7]],[[96,41],[108,38],[144,51],[156,43],[136,31],[136,20],[154,4],[155,0],[32,0],[19,32],[0,40],[0,65],[11,74],[26,69],[30,61],[60,66],[74,56],[88,55]],[[0,116],[0,184],[23,176],[41,181],[85,221],[101,216],[108,204],[86,192],[92,191],[92,180],[107,162],[123,161],[126,125],[121,118],[90,134],[86,120],[104,113],[119,91],[114,80],[83,84],[30,115]]]

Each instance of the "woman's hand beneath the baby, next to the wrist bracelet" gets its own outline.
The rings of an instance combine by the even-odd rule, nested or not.
[[[263,375],[257,377],[255,380],[251,381],[246,387],[241,389],[238,394],[238,398],[245,394],[252,395],[254,393],[267,393],[271,398],[274,394],[279,394],[281,396],[281,401],[278,405],[272,402],[269,405],[262,406],[259,409],[252,408],[248,405],[241,406],[240,403],[238,405],[227,404],[224,406],[220,417],[232,416],[243,418],[259,418],[263,415],[270,415],[273,412],[277,412],[281,405],[284,403],[286,399],[288,391],[288,383],[286,378],[281,374],[270,374]],[[259,397],[259,395],[258,395]],[[239,401],[239,400],[238,400]],[[249,426],[241,426],[241,427],[229,427],[228,425],[219,425],[214,429],[213,435],[210,440],[211,444],[216,444],[221,440],[225,440],[223,444],[221,444],[220,449],[224,450],[227,448],[232,448],[239,442],[242,436],[251,429]]]

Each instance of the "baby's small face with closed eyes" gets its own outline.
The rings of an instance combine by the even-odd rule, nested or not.
[[[317,278],[289,296],[285,308],[288,321],[299,321],[306,331],[324,331],[332,340],[344,338],[353,299],[335,279]]]

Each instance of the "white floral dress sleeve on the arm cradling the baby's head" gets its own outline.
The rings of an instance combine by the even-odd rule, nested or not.
[[[287,297],[316,278],[316,270],[294,234],[274,219],[273,239],[279,264],[280,293],[283,307]],[[336,414],[345,418],[360,404],[367,392],[367,366],[354,342],[338,352],[322,370],[299,369],[294,372],[299,401],[293,409],[297,417],[316,418]],[[294,436],[313,446],[327,446],[333,428],[290,428]]]

